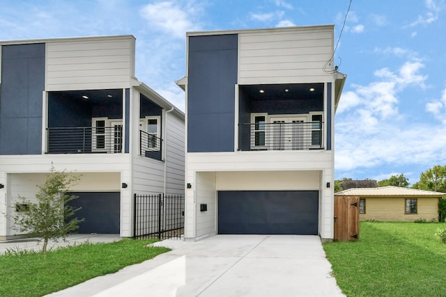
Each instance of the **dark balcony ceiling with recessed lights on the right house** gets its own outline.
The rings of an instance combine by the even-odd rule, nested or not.
[[[310,90],[310,89],[314,90]],[[294,100],[294,99],[321,99],[323,98],[323,83],[291,83],[271,85],[245,85],[240,86],[251,100]],[[263,93],[261,92],[263,90]],[[288,91],[286,91],[288,90]]]

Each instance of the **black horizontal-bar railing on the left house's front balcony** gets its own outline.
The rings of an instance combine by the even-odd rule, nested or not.
[[[47,128],[48,154],[123,152],[123,126]]]

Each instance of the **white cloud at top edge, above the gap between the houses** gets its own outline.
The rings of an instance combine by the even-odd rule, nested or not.
[[[151,26],[161,29],[164,33],[175,38],[185,38],[187,31],[199,29],[199,26],[191,19],[194,13],[193,4],[189,3],[188,6],[180,7],[176,2],[171,1],[151,3],[141,9],[141,15]]]

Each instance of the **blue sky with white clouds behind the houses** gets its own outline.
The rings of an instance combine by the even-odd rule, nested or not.
[[[184,110],[185,32],[334,24],[349,0],[0,0],[0,40],[132,34],[136,75]],[[348,75],[335,178],[415,183],[446,165],[445,0],[353,0],[334,55]]]

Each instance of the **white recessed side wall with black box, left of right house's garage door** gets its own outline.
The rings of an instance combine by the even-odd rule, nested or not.
[[[197,237],[217,233],[217,191],[215,172],[197,172]],[[208,204],[207,211],[200,211],[200,204]]]

